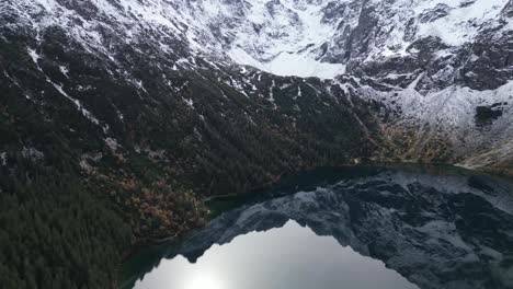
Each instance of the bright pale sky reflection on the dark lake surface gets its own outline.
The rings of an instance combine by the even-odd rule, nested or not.
[[[214,245],[196,264],[163,259],[136,289],[418,288],[385,264],[295,221]]]

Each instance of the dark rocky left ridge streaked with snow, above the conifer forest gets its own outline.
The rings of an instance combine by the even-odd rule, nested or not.
[[[264,171],[246,188],[239,185],[246,190],[284,169],[315,165],[309,159],[319,158],[314,152],[320,148],[326,161],[367,154],[372,144],[364,142],[378,127],[363,101],[317,79],[214,61],[194,48],[186,33],[193,28],[167,14],[175,5],[2,2],[2,86],[12,103],[34,107],[75,142],[69,146],[87,172],[106,152],[121,162],[134,154],[164,161],[179,166],[176,174],[201,177],[201,170],[226,171],[226,158],[264,158],[244,173]],[[33,137],[20,137],[16,146],[41,152]],[[210,187],[220,182],[202,181]]]

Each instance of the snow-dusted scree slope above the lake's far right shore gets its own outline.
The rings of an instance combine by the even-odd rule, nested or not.
[[[386,127],[415,130],[417,141],[409,154],[422,155],[432,141],[443,139],[449,144],[452,155],[461,166],[477,169],[492,165],[498,160],[511,160],[513,127],[513,82],[497,90],[477,91],[452,85],[441,91],[421,94],[413,88],[388,92],[368,85],[352,86],[358,95],[384,104],[386,112],[400,117]],[[500,112],[500,117],[486,124],[477,120],[477,111]],[[396,136],[389,131],[389,138]],[[481,155],[483,154],[483,155]],[[472,155],[472,157],[469,157]]]

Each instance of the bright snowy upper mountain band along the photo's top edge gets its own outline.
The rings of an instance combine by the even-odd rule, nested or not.
[[[159,33],[163,50],[181,39],[191,51],[278,76],[334,78],[350,61],[415,56],[412,44],[438,37],[438,57],[472,43],[489,27],[511,30],[500,15],[508,0],[242,0],[3,1],[44,30],[62,25],[87,45],[109,49],[113,28],[126,42]],[[352,68],[355,65],[353,63]],[[347,72],[351,72],[347,71]]]

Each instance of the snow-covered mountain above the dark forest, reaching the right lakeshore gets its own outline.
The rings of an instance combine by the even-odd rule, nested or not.
[[[105,71],[111,83],[149,102],[169,91],[197,119],[205,120],[198,106],[219,102],[229,88],[253,103],[219,114],[272,119],[264,107],[287,119],[285,131],[309,109],[341,105],[381,148],[364,157],[476,167],[512,161],[511,0],[4,0],[0,15],[5,46],[16,42],[29,69],[105,139],[119,138],[111,136],[115,124],[88,99],[98,82],[77,69],[91,57],[88,69]],[[80,59],[59,57],[50,42]],[[23,96],[47,102],[12,67],[1,69]],[[191,89],[191,71],[216,89]],[[123,100],[110,102],[116,122],[125,122]]]

